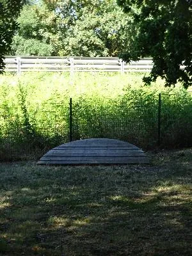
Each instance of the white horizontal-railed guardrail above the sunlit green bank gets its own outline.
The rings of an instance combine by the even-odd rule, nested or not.
[[[43,57],[6,56],[6,72],[49,71],[49,72],[150,72],[152,58],[125,63],[117,57]]]

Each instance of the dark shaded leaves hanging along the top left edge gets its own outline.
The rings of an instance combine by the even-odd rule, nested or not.
[[[10,51],[12,38],[18,28],[17,17],[24,0],[0,0],[0,73],[4,68],[4,54]]]

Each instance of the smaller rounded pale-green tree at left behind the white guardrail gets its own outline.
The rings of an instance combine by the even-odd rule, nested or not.
[[[19,28],[13,37],[12,54],[50,56],[54,54],[51,38],[56,36],[56,15],[45,6],[26,4],[17,19]]]

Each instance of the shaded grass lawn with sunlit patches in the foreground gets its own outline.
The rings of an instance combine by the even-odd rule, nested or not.
[[[150,165],[0,165],[0,255],[190,255],[192,148]]]

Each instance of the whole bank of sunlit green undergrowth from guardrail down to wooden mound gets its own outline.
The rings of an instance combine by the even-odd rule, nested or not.
[[[67,142],[70,97],[73,140],[118,138],[156,147],[160,92],[162,146],[192,145],[191,92],[181,84],[165,88],[161,79],[145,86],[142,76],[77,73],[73,84],[69,74],[31,72],[19,80],[1,76],[0,151],[47,150]]]

